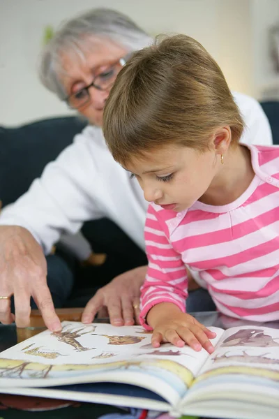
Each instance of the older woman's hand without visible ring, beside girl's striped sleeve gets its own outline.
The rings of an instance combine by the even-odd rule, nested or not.
[[[140,287],[146,276],[147,266],[136,267],[114,278],[100,288],[86,304],[83,323],[91,323],[97,313],[110,316],[114,326],[139,323]]]

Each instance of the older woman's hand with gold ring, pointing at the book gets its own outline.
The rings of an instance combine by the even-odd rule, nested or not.
[[[0,226],[0,295],[5,297],[0,300],[0,322],[9,324],[15,321],[18,328],[27,327],[30,297],[33,297],[47,328],[61,330],[46,277],[45,256],[31,233],[19,226]],[[10,312],[12,295],[15,316]]]

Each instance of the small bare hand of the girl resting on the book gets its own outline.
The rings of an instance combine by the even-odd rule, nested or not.
[[[153,328],[151,343],[154,348],[158,348],[163,342],[170,342],[179,348],[188,344],[195,351],[202,348],[209,353],[214,351],[209,339],[216,337],[216,333],[211,332],[190,314],[183,313],[175,304],[162,302],[152,307],[147,321]]]

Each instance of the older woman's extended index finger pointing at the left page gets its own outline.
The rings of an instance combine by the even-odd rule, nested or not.
[[[40,309],[47,328],[52,332],[60,332],[62,329],[61,321],[55,312],[52,295],[48,286],[46,284],[38,286],[36,293],[33,294],[33,298],[36,301],[38,309]]]

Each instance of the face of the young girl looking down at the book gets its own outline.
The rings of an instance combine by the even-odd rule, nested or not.
[[[204,196],[221,169],[220,164],[216,149],[199,152],[165,145],[143,159],[133,159],[126,170],[137,177],[147,201],[181,212]]]

